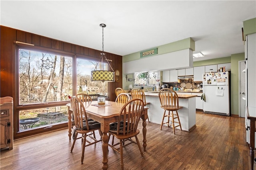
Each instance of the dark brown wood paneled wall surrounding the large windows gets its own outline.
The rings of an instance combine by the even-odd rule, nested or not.
[[[1,71],[0,72],[0,96],[11,96],[16,99],[16,82],[15,82],[15,72],[16,72],[16,44],[14,41],[20,41],[23,43],[34,44],[34,46],[47,48],[57,52],[67,52],[73,53],[74,55],[84,55],[90,57],[99,58],[100,52],[95,49],[88,47],[82,47],[80,45],[75,45],[71,43],[66,43],[56,39],[51,39],[48,37],[43,37],[40,35],[28,33],[25,31],[13,29],[10,27],[2,26],[1,29]],[[112,53],[106,53],[106,58],[112,60],[110,62],[114,70],[120,71],[120,79],[122,80],[122,56],[115,55]],[[117,87],[122,87],[122,81],[120,82],[110,82],[109,86],[109,97],[111,101],[115,101],[116,94],[115,89]],[[16,101],[14,101],[15,105]],[[17,106],[17,105],[15,105]]]

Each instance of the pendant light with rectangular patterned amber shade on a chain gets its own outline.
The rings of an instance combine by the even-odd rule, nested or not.
[[[106,55],[104,53],[104,34],[103,29],[106,27],[106,24],[101,23],[100,27],[102,27],[102,53],[100,53],[100,60],[94,69],[94,71],[91,72],[91,81],[92,82],[114,82],[115,81],[115,72],[112,68],[112,66],[109,64],[108,59],[106,58]],[[108,62],[109,67],[112,69],[112,71],[104,70],[103,65],[103,58]],[[97,66],[100,63],[99,70],[97,70]]]

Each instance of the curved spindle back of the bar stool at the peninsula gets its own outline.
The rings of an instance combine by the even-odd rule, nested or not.
[[[174,90],[163,88],[159,91],[158,96],[162,108],[172,110],[179,109],[178,94]]]

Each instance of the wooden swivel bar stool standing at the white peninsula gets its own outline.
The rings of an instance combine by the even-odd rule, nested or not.
[[[176,127],[180,127],[180,130],[182,131],[182,128],[180,125],[180,118],[178,115],[178,110],[182,108],[182,106],[179,106],[178,94],[170,88],[163,88],[159,91],[158,96],[161,103],[161,108],[164,109],[164,115],[163,115],[160,130],[162,130],[162,126],[164,124],[167,124],[167,127],[172,126],[173,134],[175,135]],[[168,113],[166,113],[166,111],[168,111]],[[170,111],[172,111],[171,114],[170,114]],[[165,117],[168,117],[167,122],[164,122]]]

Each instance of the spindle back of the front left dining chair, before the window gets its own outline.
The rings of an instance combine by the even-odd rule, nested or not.
[[[78,97],[72,96],[72,98],[70,99],[70,104],[73,110],[73,118],[76,128],[83,129],[83,122],[85,121],[86,129],[89,129],[86,110],[84,108],[82,101]]]

